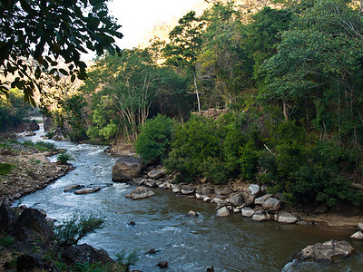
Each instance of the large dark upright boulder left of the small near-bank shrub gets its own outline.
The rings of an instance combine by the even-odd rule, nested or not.
[[[41,238],[44,243],[54,240],[54,232],[44,215],[38,209],[25,209],[15,222],[15,238],[35,240]]]

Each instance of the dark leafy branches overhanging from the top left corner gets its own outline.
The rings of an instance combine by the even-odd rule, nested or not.
[[[17,87],[34,104],[42,74],[85,79],[81,53],[121,53],[114,37],[121,25],[108,15],[108,0],[1,1],[0,92]],[[59,63],[66,67],[57,67]],[[9,79],[11,75],[11,79]],[[4,78],[3,78],[4,77]]]

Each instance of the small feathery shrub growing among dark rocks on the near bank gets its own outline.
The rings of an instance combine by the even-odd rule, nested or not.
[[[103,219],[90,216],[74,214],[73,217],[64,221],[54,228],[56,241],[62,248],[76,245],[80,239],[93,232],[97,228],[103,228]]]

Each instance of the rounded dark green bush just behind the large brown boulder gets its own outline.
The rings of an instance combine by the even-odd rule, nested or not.
[[[158,163],[165,159],[172,141],[172,120],[158,114],[145,122],[134,143],[136,152],[145,162]]]

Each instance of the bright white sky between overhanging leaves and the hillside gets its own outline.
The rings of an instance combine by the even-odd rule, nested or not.
[[[123,25],[123,39],[117,42],[121,49],[132,49],[140,44],[152,27],[168,23],[172,17],[182,17],[201,0],[113,0],[108,4],[109,13]]]

